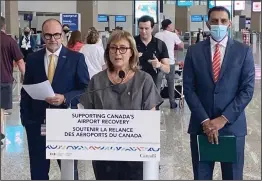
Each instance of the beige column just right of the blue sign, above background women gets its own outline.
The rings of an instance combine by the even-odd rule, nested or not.
[[[88,28],[94,26],[96,27],[97,18],[97,1],[76,1],[77,13],[81,14],[81,32],[83,37],[87,34]]]

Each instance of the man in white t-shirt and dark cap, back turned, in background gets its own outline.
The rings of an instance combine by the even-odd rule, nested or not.
[[[171,20],[165,19],[162,21],[162,29],[163,31],[156,33],[155,37],[162,40],[168,49],[169,55],[169,66],[170,72],[166,74],[167,85],[168,85],[168,95],[169,95],[169,103],[170,109],[175,109],[177,107],[177,103],[175,102],[175,53],[174,47],[178,46],[179,49],[184,48],[184,43],[179,39],[174,31],[174,25]]]

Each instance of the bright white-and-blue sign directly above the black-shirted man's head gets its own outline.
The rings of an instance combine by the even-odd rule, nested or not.
[[[135,18],[148,15],[154,18],[157,23],[157,1],[134,1],[135,2]]]

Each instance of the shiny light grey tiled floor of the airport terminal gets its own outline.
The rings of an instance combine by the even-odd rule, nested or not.
[[[261,71],[261,55],[257,56],[257,71]],[[259,59],[258,59],[259,58]],[[261,76],[257,73],[256,90],[252,102],[248,105],[248,136],[245,150],[245,180],[261,180]],[[26,134],[20,124],[19,99],[14,96],[14,109],[6,122],[6,146],[1,151],[1,180],[29,180],[29,157]],[[161,125],[161,169],[160,179],[186,180],[193,179],[189,136],[186,133],[190,111],[185,106],[183,110],[170,110],[165,103]],[[214,171],[214,179],[221,179],[219,164]],[[89,161],[79,162],[81,180],[94,179]],[[60,179],[60,171],[55,161],[52,161],[50,179]]]

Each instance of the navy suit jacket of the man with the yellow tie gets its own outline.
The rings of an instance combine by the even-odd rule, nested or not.
[[[45,53],[46,49],[42,49],[28,56],[24,84],[37,84],[48,80],[44,63]],[[79,100],[77,95],[84,92],[88,83],[89,73],[84,55],[63,47],[59,54],[52,88],[55,93],[65,96],[66,104],[52,106],[45,101],[33,100],[22,89],[20,103],[22,124],[43,123],[46,109],[49,107],[54,109],[67,108],[72,101],[71,108],[77,108]]]

